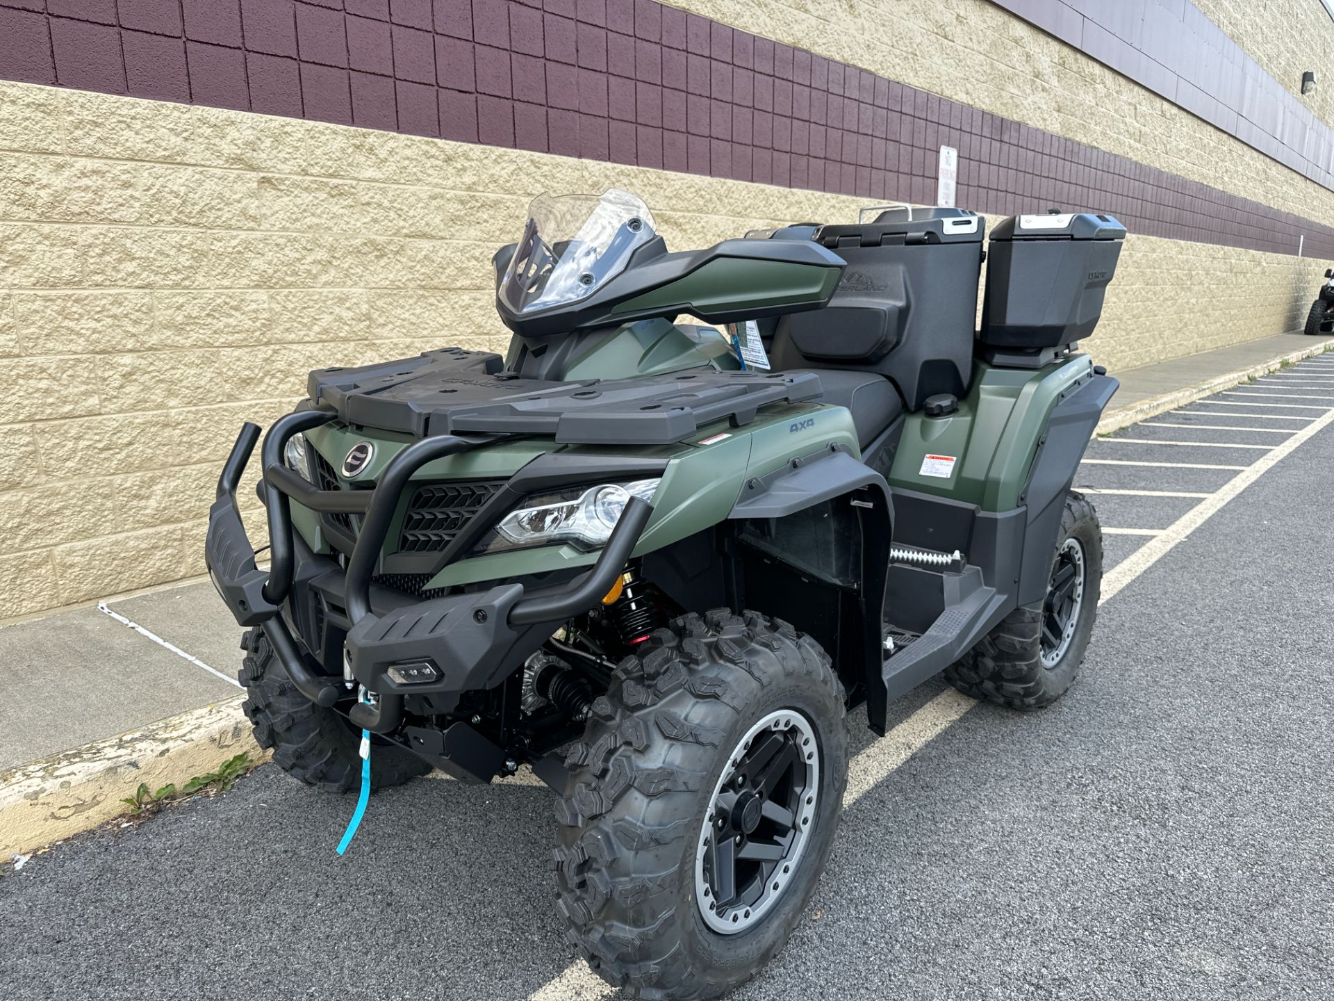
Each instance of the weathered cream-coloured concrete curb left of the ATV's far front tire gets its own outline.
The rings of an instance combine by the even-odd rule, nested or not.
[[[140,782],[184,785],[227,758],[268,759],[241,713],[243,697],[0,773],[0,860],[96,827],[128,811]]]

